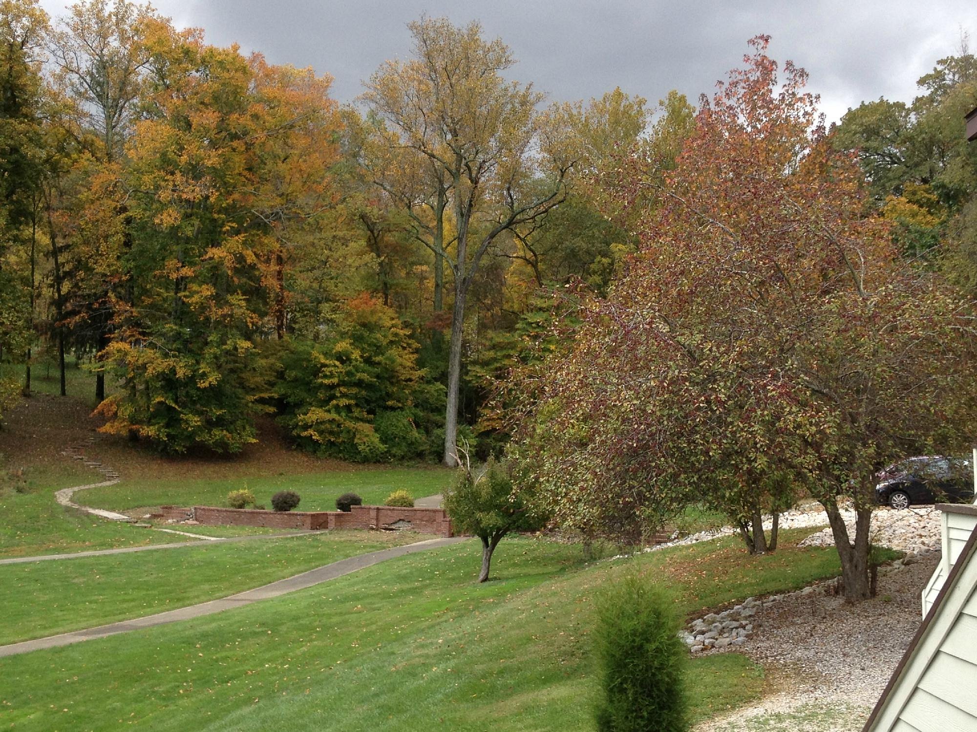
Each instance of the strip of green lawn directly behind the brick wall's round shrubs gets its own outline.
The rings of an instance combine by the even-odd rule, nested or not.
[[[272,496],[292,490],[302,497],[297,510],[335,510],[336,498],[357,493],[364,504],[382,504],[397,489],[413,498],[441,493],[451,479],[447,468],[346,468],[307,474],[282,474],[220,479],[126,478],[108,488],[85,494],[89,506],[127,510],[148,506],[226,506],[228,493],[246,488],[259,504],[272,508]]]

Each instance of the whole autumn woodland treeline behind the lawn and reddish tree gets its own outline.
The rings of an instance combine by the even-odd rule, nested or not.
[[[341,105],[329,76],[149,6],[52,20],[0,1],[0,411],[39,358],[64,392],[74,356],[106,431],[166,452],[239,451],[261,413],[355,461],[452,465],[459,434],[504,441],[500,408],[536,393],[499,382],[564,352],[575,309],[642,258],[702,108],[618,89],[547,103],[478,23],[410,33]],[[863,213],[971,293],[975,90],[964,50],[914,102],[829,132],[861,163]]]

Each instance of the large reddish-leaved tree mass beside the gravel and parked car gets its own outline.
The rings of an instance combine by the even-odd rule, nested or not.
[[[974,313],[865,215],[855,161],[826,137],[806,73],[787,61],[778,74],[768,40],[701,100],[673,171],[658,183],[637,161],[622,200],[660,204],[571,356],[551,364],[525,444],[541,445],[534,479],[577,524],[626,508],[654,525],[705,498],[748,521],[757,549],[756,508],[802,486],[857,600],[873,472],[968,438],[977,400],[954,385],[975,376]]]

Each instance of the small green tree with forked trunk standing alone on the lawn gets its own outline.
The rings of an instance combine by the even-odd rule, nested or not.
[[[480,472],[472,469],[468,454],[459,447],[454,482],[445,494],[445,508],[454,528],[482,540],[482,571],[479,582],[488,580],[491,555],[506,534],[536,531],[544,518],[526,500],[526,493],[515,491],[509,468],[489,460]]]

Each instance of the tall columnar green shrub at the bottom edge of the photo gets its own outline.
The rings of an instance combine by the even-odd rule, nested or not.
[[[689,728],[683,688],[689,652],[678,636],[672,598],[632,575],[597,603],[593,635],[601,732],[679,732]]]

